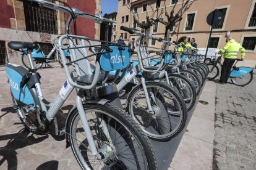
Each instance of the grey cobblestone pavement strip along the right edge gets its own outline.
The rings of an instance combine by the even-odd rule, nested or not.
[[[255,76],[245,87],[217,84],[213,169],[256,169]]]

